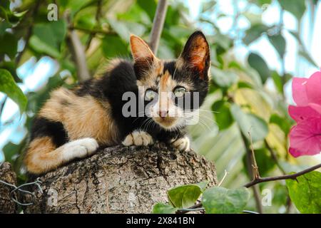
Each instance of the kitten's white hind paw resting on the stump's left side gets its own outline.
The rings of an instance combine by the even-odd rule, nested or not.
[[[96,152],[98,142],[93,138],[82,138],[63,145],[63,160],[70,161],[74,158],[86,157]]]

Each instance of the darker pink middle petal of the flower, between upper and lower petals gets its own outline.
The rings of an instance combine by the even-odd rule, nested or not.
[[[289,105],[288,111],[292,119],[295,120],[297,123],[307,118],[320,117],[321,106],[313,104],[313,107],[311,107],[311,105],[309,104],[308,106],[304,106],[304,107]]]

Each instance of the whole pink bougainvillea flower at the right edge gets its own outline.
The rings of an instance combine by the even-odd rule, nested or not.
[[[290,130],[289,152],[293,157],[321,152],[321,72],[310,78],[293,78],[289,114],[297,122]]]

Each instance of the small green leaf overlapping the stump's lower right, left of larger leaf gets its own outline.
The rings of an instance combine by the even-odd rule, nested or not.
[[[181,185],[168,190],[167,195],[173,207],[188,208],[195,204],[208,182],[195,185]]]

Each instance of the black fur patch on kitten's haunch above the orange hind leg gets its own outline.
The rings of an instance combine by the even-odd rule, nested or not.
[[[62,123],[36,117],[31,129],[31,140],[45,136],[52,138],[56,147],[60,147],[68,142],[68,135]]]

